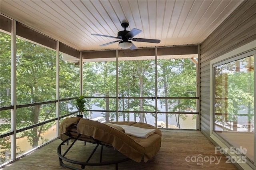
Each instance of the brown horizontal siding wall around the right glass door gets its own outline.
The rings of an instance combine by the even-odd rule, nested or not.
[[[210,60],[256,40],[256,1],[244,1],[200,45],[201,131],[210,138]]]

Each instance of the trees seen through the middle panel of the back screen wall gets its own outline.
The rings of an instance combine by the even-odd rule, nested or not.
[[[127,108],[134,111],[155,111],[154,106],[143,99],[155,95],[155,63],[154,60],[119,61],[119,95],[124,97],[142,97],[139,100],[127,100]],[[154,115],[153,115],[154,116]],[[147,122],[144,113],[134,113],[134,119],[140,118],[140,122]]]

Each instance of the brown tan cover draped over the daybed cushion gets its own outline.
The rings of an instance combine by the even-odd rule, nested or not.
[[[130,125],[140,128],[156,129],[154,134],[151,134],[147,138],[138,138],[124,134],[120,130],[112,128],[104,123],[92,121],[89,119],[82,119],[80,117],[72,117],[64,119],[60,125],[59,138],[66,139],[67,132],[72,125],[77,125],[77,133],[92,136],[94,139],[100,140],[110,146],[113,146],[116,150],[127,156],[128,158],[141,162],[144,156],[144,162],[147,162],[160,150],[161,145],[161,131],[145,123],[137,122],[110,122],[119,125]],[[86,140],[81,136],[81,139]]]

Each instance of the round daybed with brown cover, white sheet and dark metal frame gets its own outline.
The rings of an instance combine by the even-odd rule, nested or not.
[[[133,134],[127,134],[126,130],[138,131],[140,129],[150,131],[150,134],[146,136],[136,137]],[[134,128],[138,130],[134,130]],[[59,156],[60,165],[71,168],[64,164],[62,160],[71,162],[73,164],[81,165],[84,169],[85,166],[100,166],[108,164],[116,164],[116,169],[118,169],[118,163],[134,160],[136,162],[147,162],[152,159],[157,152],[160,150],[161,146],[161,131],[146,123],[138,122],[110,122],[110,123],[100,123],[97,121],[92,121],[89,119],[82,119],[80,117],[66,118],[62,121],[60,125],[60,135],[59,138],[62,140],[61,144],[57,148],[57,154]],[[63,153],[61,146],[68,141],[72,141],[69,148]],[[90,142],[96,144],[94,151],[91,153],[86,162],[78,162],[76,160],[70,160],[65,157],[66,153],[75,144],[77,140],[82,140],[84,142]],[[94,154],[95,150],[101,146],[100,160],[99,162],[89,162],[90,158]],[[112,147],[118,150],[120,153],[125,155],[127,158],[122,160],[113,160],[111,162],[102,162],[102,148]]]

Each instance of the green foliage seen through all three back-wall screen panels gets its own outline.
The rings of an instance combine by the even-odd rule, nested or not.
[[[84,64],[84,95],[116,97],[116,62],[92,62]],[[164,97],[196,97],[196,65],[190,59],[158,60],[158,95]],[[165,79],[165,80],[164,80]],[[165,85],[164,85],[165,81]],[[166,91],[162,89],[166,89]],[[136,60],[118,62],[118,96],[154,97],[155,96],[155,61]],[[195,99],[166,100],[165,111],[195,111]],[[154,101],[148,99],[119,99],[122,111],[155,111]],[[161,107],[165,100],[160,99]],[[86,107],[99,107],[103,110],[116,110],[116,99],[86,99]],[[86,112],[85,117],[91,117]],[[116,113],[102,113],[106,121],[111,121]],[[134,113],[141,122],[145,114]],[[168,114],[170,117],[171,114]],[[129,114],[118,114],[122,119],[129,119]],[[152,114],[155,117],[155,114]],[[186,114],[177,119],[186,119]],[[135,118],[134,118],[135,119]],[[184,119],[184,120],[185,120]],[[194,119],[194,117],[192,118]]]

